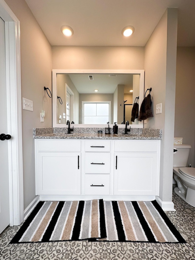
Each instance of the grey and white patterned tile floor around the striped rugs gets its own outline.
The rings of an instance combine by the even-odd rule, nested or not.
[[[173,192],[176,212],[166,212],[186,244],[133,242],[50,242],[9,244],[19,226],[8,227],[0,236],[0,259],[15,260],[195,260],[195,208]]]

